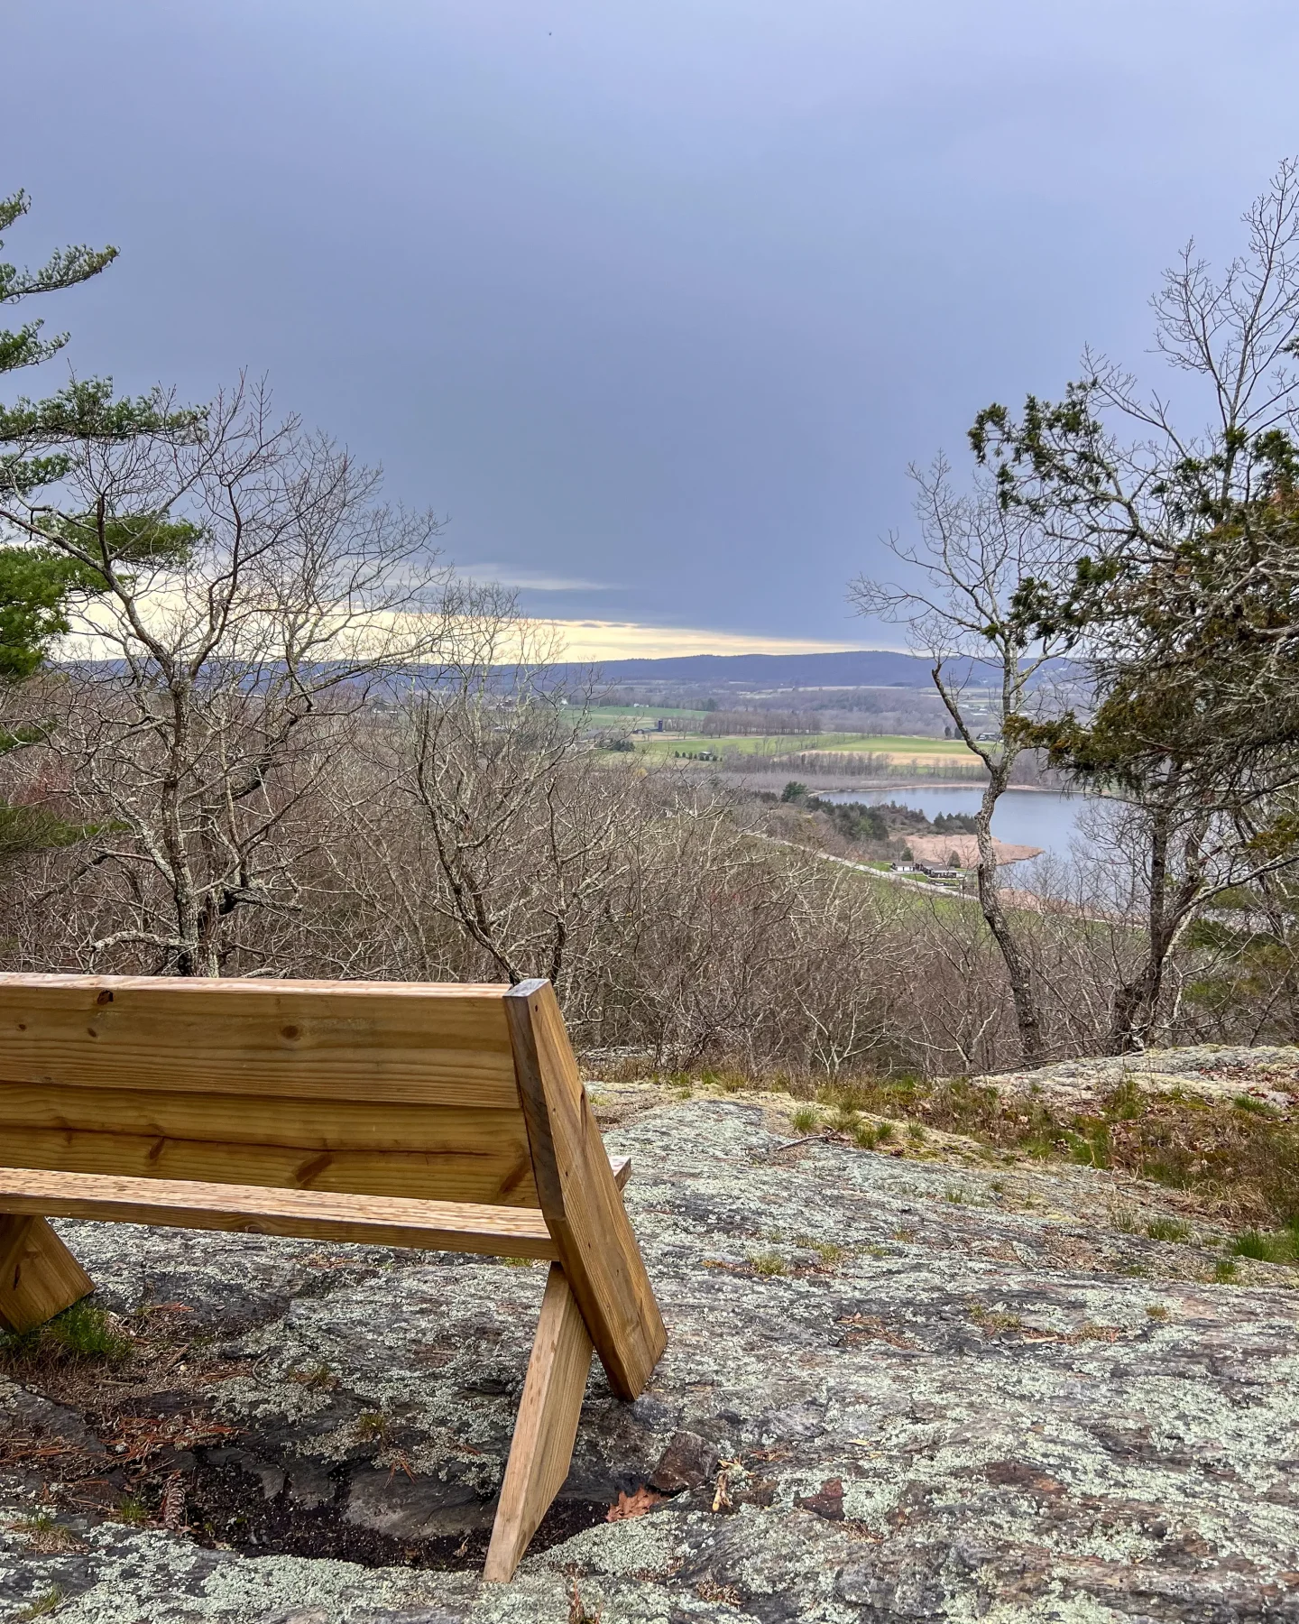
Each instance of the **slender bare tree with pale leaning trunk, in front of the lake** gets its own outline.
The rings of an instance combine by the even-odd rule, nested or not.
[[[890,538],[906,570],[898,585],[859,577],[851,598],[864,615],[901,624],[911,646],[932,661],[930,676],[960,737],[987,770],[974,833],[979,908],[1005,961],[1025,1065],[1047,1054],[1033,971],[999,895],[992,815],[1012,781],[1021,745],[1012,718],[1042,708],[1049,663],[1062,637],[1039,635],[1023,611],[1025,581],[1055,581],[1060,549],[1031,515],[1008,510],[987,479],[952,489],[948,464],[911,469],[919,541]],[[992,726],[971,716],[971,695],[990,705]]]

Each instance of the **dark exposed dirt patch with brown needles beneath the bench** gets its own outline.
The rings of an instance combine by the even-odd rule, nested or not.
[[[50,1541],[71,1540],[52,1520],[71,1515],[88,1527],[166,1528],[244,1556],[481,1570],[494,1501],[408,1465],[386,1470],[364,1450],[336,1463],[286,1455],[283,1440],[222,1418],[219,1385],[253,1361],[219,1358],[183,1304],[122,1317],[83,1306],[75,1333],[70,1343],[67,1322],[55,1320],[0,1343],[0,1371],[23,1384],[0,1416],[0,1486],[39,1507],[34,1533],[15,1525],[32,1551],[70,1549]],[[531,1549],[607,1515],[604,1501],[560,1499]]]

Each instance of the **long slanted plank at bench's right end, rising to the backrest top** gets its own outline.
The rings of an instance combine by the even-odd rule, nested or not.
[[[541,1210],[609,1385],[620,1398],[635,1398],[667,1332],[578,1078],[555,989],[549,981],[524,981],[507,992],[505,1010]]]

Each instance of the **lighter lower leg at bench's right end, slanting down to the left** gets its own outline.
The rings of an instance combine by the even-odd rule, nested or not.
[[[568,1280],[550,1263],[484,1579],[507,1583],[513,1577],[568,1476],[593,1351]]]

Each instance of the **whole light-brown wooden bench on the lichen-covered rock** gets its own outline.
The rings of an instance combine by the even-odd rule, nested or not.
[[[0,1320],[93,1289],[45,1221],[550,1262],[484,1577],[573,1455],[594,1348],[635,1398],[662,1317],[549,981],[0,974]]]

